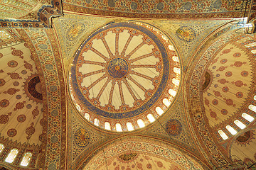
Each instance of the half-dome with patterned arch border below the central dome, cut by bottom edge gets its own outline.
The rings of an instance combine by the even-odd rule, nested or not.
[[[147,142],[145,142],[147,141]],[[203,169],[187,154],[150,138],[124,137],[115,140],[83,168],[89,169]]]

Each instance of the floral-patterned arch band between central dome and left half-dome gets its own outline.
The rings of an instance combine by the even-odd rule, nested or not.
[[[66,94],[65,81],[63,77],[63,65],[59,52],[58,41],[55,33],[51,29],[46,30],[20,30],[28,40],[31,53],[38,56],[38,69],[42,69],[43,79],[46,84],[43,91],[43,102],[46,106],[43,116],[46,118],[47,126],[43,127],[44,141],[42,142],[42,152],[39,157],[39,167],[48,169],[65,169],[66,164]],[[38,38],[40,37],[40,38]],[[36,38],[36,39],[35,39]],[[50,50],[42,51],[38,44],[46,43]],[[51,67],[48,67],[51,64]],[[41,74],[40,74],[41,75]],[[54,88],[53,88],[54,87]],[[53,140],[53,139],[56,139]]]

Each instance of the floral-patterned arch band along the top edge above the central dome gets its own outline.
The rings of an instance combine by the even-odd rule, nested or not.
[[[247,8],[249,4],[250,1]],[[63,1],[63,9],[66,11],[129,18],[240,18],[244,15],[245,6],[246,3],[234,0]]]

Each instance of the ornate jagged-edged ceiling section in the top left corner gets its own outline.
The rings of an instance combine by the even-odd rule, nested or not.
[[[0,2],[2,28],[50,28],[50,18],[62,15],[62,4],[59,0],[2,0]]]

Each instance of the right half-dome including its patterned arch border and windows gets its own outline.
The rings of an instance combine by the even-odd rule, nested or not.
[[[255,162],[255,38],[230,32],[213,35],[186,78],[194,128],[222,168]]]

